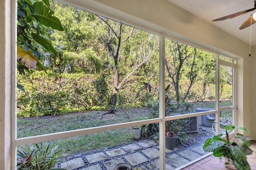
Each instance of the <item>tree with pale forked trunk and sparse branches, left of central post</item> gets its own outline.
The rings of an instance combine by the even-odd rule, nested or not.
[[[98,37],[108,51],[109,65],[114,74],[113,92],[110,100],[110,105],[112,106],[110,113],[112,113],[116,105],[117,93],[122,87],[122,84],[124,84],[129,76],[142,66],[142,64],[146,63],[153,55],[155,55],[155,51],[158,49],[158,41],[157,37],[150,33],[145,33],[107,18],[99,18],[102,22],[103,31],[97,31],[98,33],[101,33]],[[138,38],[138,36],[136,37],[135,35],[140,35],[141,37]],[[136,38],[132,39],[132,37]],[[133,41],[126,43],[131,39]],[[124,61],[125,58],[130,58],[130,61],[132,61],[130,64],[131,69],[124,70],[120,74],[119,64],[120,61]],[[122,78],[120,75],[122,75]]]

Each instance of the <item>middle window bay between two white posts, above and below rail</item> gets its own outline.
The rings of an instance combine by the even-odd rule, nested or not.
[[[165,45],[166,116],[214,111],[215,54],[170,39]],[[202,145],[215,134],[213,121],[214,112],[166,121],[166,135],[177,137],[175,147],[166,148],[166,163],[178,168],[206,154]]]

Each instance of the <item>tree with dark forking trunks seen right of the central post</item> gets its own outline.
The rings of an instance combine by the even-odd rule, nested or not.
[[[176,41],[166,40],[165,56],[166,70],[174,86],[176,102],[186,101],[193,84],[199,80],[207,82],[215,69],[211,53]],[[187,82],[186,86],[181,86],[181,80]]]

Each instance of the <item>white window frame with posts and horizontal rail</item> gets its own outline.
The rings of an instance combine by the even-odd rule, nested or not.
[[[60,1],[60,0],[59,0]],[[14,2],[14,1],[12,1]],[[62,2],[63,3],[63,2]],[[69,4],[70,5],[70,4]],[[12,37],[12,54],[15,55],[15,57],[13,58],[12,61],[12,82],[14,82],[13,84],[16,85],[16,35],[17,35],[17,4],[13,5],[13,9],[14,9],[14,16],[12,16],[13,18],[13,22],[12,22],[12,32],[14,35]],[[90,11],[93,12],[93,11]],[[94,12],[96,14],[98,14],[96,11]],[[101,14],[99,14],[101,15]],[[102,15],[104,16],[104,15]],[[104,16],[104,17],[108,17],[108,16]],[[113,18],[111,18],[113,19]],[[143,29],[142,29],[143,30]],[[144,29],[144,31],[147,31]],[[148,31],[148,32],[152,32]],[[164,51],[165,51],[165,34],[159,34],[157,32],[157,30],[155,30],[154,34],[156,35],[160,35],[160,52],[159,52],[159,59],[160,59],[160,64],[159,64],[159,72],[160,72],[160,76],[159,76],[159,101],[160,101],[160,106],[159,106],[159,118],[156,119],[148,119],[148,120],[142,120],[142,121],[133,121],[133,122],[126,122],[126,123],[118,123],[118,124],[114,124],[114,125],[105,125],[105,126],[100,126],[100,127],[90,127],[90,128],[86,128],[86,129],[77,129],[77,130],[72,130],[72,131],[64,131],[64,132],[58,132],[58,133],[50,133],[50,134],[44,134],[44,135],[37,135],[37,136],[32,136],[32,137],[23,137],[23,138],[17,138],[17,117],[16,117],[16,88],[12,87],[12,106],[13,108],[13,113],[12,114],[12,139],[14,139],[12,141],[13,143],[13,147],[12,147],[12,158],[14,161],[12,161],[12,166],[16,167],[16,149],[18,146],[20,145],[27,145],[27,144],[32,144],[32,143],[38,143],[38,142],[44,142],[44,141],[52,141],[55,139],[63,139],[63,138],[68,138],[68,137],[75,137],[75,136],[79,136],[79,135],[86,135],[86,134],[90,134],[90,133],[97,133],[97,132],[102,132],[102,131],[109,131],[109,130],[114,130],[114,129],[121,129],[121,128],[125,128],[125,127],[132,127],[132,126],[138,126],[138,125],[144,125],[144,124],[149,124],[149,123],[157,123],[159,122],[160,125],[160,143],[159,143],[159,150],[160,150],[160,170],[165,170],[165,121],[169,121],[169,120],[174,120],[174,119],[181,119],[181,118],[186,118],[186,117],[194,117],[194,116],[200,116],[200,115],[205,115],[205,114],[210,114],[210,113],[217,113],[216,114],[216,119],[219,120],[219,113],[221,110],[224,109],[230,109],[230,108],[219,108],[219,97],[218,97],[218,92],[219,92],[219,64],[227,64],[227,65],[232,65],[234,68],[236,66],[235,63],[228,63],[228,62],[223,62],[223,61],[219,61],[218,60],[218,54],[216,57],[216,110],[214,111],[206,111],[206,112],[198,112],[198,113],[190,113],[190,114],[184,114],[184,115],[176,115],[176,116],[168,116],[165,117],[165,102],[164,102],[164,89],[165,89],[165,77],[164,77],[164,68],[165,68],[165,64],[164,64]],[[203,48],[201,48],[203,49]],[[234,72],[234,75],[236,72]],[[233,105],[234,107],[236,106],[236,77],[233,77],[233,81],[234,81],[234,86],[233,86]],[[234,120],[236,116],[234,115]],[[235,122],[234,122],[235,123]],[[236,124],[236,123],[235,123]],[[218,127],[219,128],[219,127]],[[216,129],[218,129],[216,128]],[[217,130],[218,131],[218,130]],[[200,157],[202,158],[202,157]]]

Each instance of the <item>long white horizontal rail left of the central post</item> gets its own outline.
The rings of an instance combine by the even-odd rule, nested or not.
[[[31,136],[31,137],[23,137],[23,138],[18,138],[15,140],[15,146],[18,147],[21,145],[33,144],[33,143],[38,143],[38,142],[42,142],[42,141],[52,141],[52,140],[56,140],[56,139],[63,139],[63,138],[68,138],[68,137],[87,135],[87,134],[91,134],[91,133],[110,131],[110,130],[114,130],[114,129],[122,129],[125,127],[133,127],[133,126],[138,126],[138,125],[157,123],[160,121],[162,121],[162,119],[155,118],[155,119],[132,121],[132,122],[126,122],[126,123],[118,123],[118,124],[114,124],[114,125],[89,127],[89,128],[85,128],[85,129],[77,129],[77,130],[72,130],[72,131],[49,133],[49,134],[36,135],[36,136]]]

